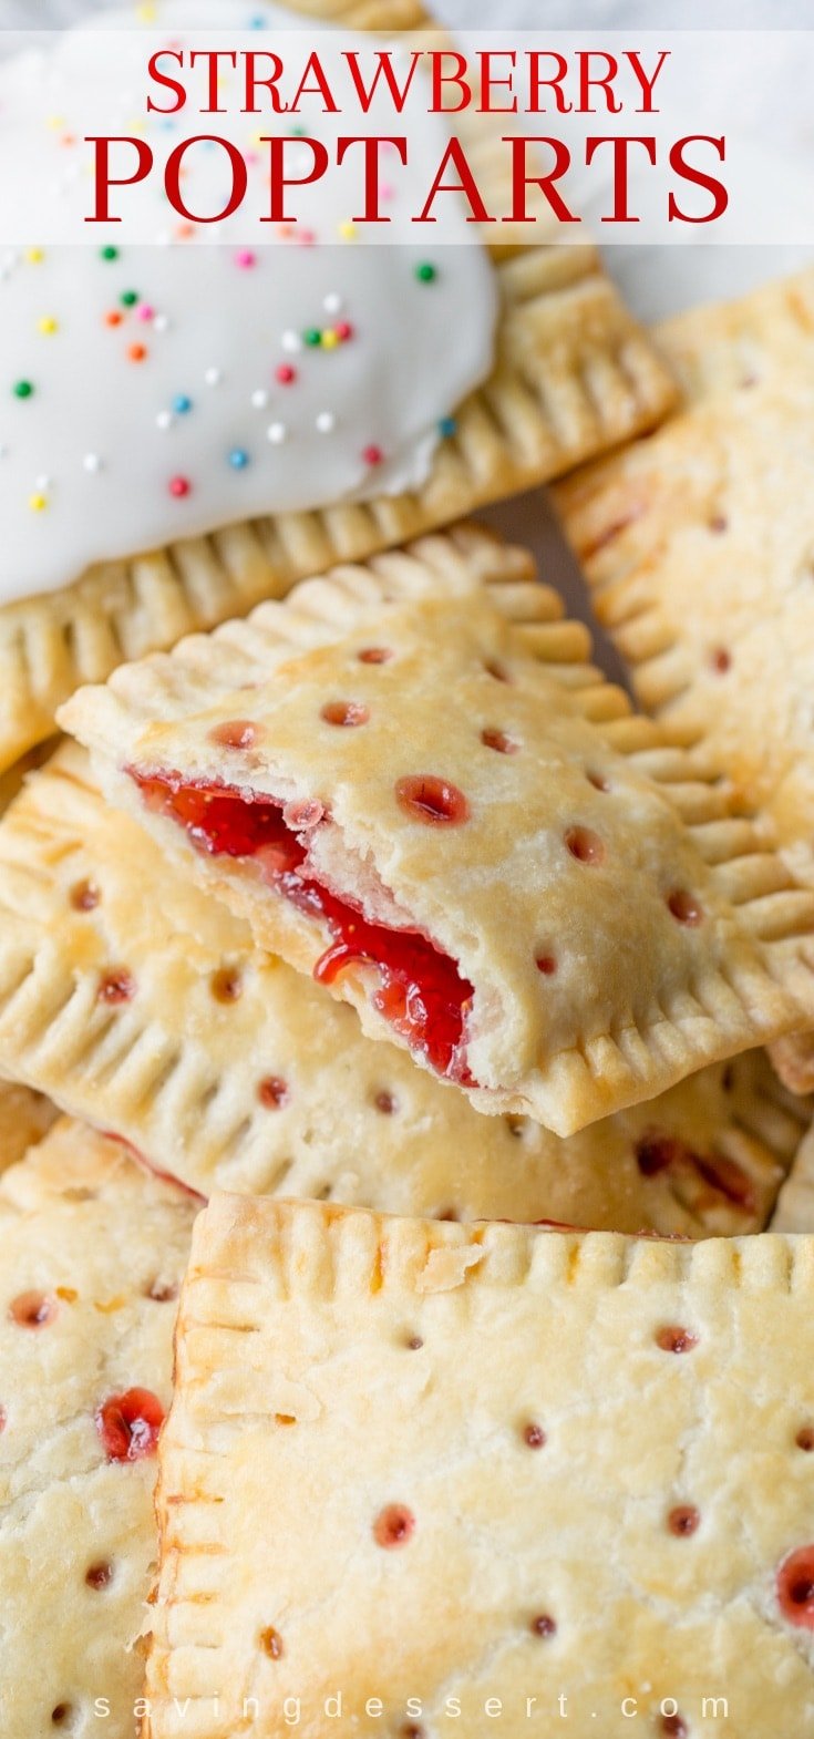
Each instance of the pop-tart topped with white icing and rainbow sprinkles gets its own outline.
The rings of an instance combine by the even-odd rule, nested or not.
[[[263,64],[280,26],[339,24],[353,45],[357,28],[428,24],[412,0],[292,0],[256,17],[244,0],[207,3],[205,19],[195,0],[141,10],[153,30],[144,66],[163,33],[176,54],[191,54],[205,24],[231,43],[252,31]],[[127,54],[139,17],[104,24],[129,26]],[[510,249],[517,237],[494,221],[490,252],[449,193],[445,245],[430,250],[414,230],[409,242],[365,245],[329,191],[317,223],[296,203],[268,247],[245,245],[245,233],[231,240],[228,224],[214,226],[212,243],[212,226],[176,219],[163,193],[146,242],[108,226],[108,240],[90,245],[90,28],[54,33],[52,49],[0,68],[0,144],[17,197],[30,158],[42,170],[50,153],[49,195],[56,188],[61,223],[73,219],[68,233],[83,242],[9,249],[0,261],[0,769],[50,734],[78,683],[304,574],[557,476],[651,428],[675,398],[593,247]],[[162,101],[150,111],[144,66],[137,134],[160,153],[174,122]],[[320,110],[325,151],[348,122],[346,108]],[[292,120],[252,120],[233,94],[217,136],[230,125],[254,190],[268,177],[261,141],[289,136]],[[391,113],[379,127],[390,130]],[[440,160],[449,143],[438,115],[423,115],[419,137],[410,117],[402,130],[409,162],[397,158],[388,188],[397,217],[421,210],[421,158]],[[471,146],[489,197],[496,163],[501,186],[510,172],[503,130],[490,123],[490,139]],[[285,137],[290,146],[310,162],[308,146]],[[190,176],[190,210],[212,210],[223,153],[193,153]],[[301,193],[289,188],[289,200]]]

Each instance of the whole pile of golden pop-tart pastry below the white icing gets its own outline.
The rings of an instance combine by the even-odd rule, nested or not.
[[[104,574],[0,610],[3,1739],[814,1730],[814,280],[619,445],[595,264],[496,270],[423,501],[144,558],[103,687]],[[447,525],[610,445],[642,711]]]

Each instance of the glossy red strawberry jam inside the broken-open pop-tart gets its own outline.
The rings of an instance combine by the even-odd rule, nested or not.
[[[327,923],[334,941],[313,969],[320,984],[332,984],[350,965],[374,965],[379,972],[374,1009],[438,1075],[473,1085],[464,1059],[473,986],[449,955],[417,930],[370,923],[350,901],[303,875],[308,847],[289,826],[280,803],[252,802],[223,784],[193,784],[181,774],[146,776],[134,767],[127,772],[146,807],[184,828],[197,850],[256,861],[285,899]]]

